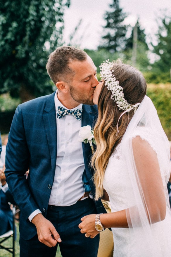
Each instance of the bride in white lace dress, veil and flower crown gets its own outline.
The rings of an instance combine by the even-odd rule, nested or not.
[[[169,141],[141,72],[120,60],[100,67],[92,165],[96,200],[107,192],[112,212],[84,216],[79,228],[94,238],[111,227],[115,257],[170,256]]]

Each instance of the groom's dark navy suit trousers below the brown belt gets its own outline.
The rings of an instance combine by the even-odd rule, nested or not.
[[[63,257],[96,257],[99,247],[99,234],[91,239],[80,232],[81,218],[96,213],[93,199],[85,199],[71,206],[49,205],[47,219],[58,231],[62,242],[59,243]],[[48,247],[38,241],[37,235],[30,240],[20,237],[20,257],[55,257],[57,245]]]

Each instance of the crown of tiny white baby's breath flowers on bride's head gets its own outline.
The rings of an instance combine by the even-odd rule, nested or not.
[[[132,109],[136,109],[137,105],[128,104],[127,100],[124,98],[123,88],[119,85],[119,81],[115,78],[115,75],[112,75],[113,63],[109,62],[109,59],[103,62],[100,65],[100,74],[101,78],[105,80],[105,85],[108,90],[111,91],[111,99],[115,100],[118,108],[123,111],[130,111]],[[130,109],[130,110],[129,110]]]

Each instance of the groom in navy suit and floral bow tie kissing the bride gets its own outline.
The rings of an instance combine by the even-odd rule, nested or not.
[[[86,238],[78,224],[105,209],[93,200],[91,148],[78,133],[97,118],[96,67],[83,50],[63,46],[46,69],[56,92],[17,107],[6,147],[6,180],[21,210],[20,257],[55,256],[58,243],[62,256],[94,257],[99,237]],[[91,187],[85,194],[84,170]]]

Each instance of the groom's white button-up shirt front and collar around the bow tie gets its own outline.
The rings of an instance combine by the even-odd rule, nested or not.
[[[55,94],[56,117],[58,106],[67,109]],[[82,109],[82,104],[71,109]],[[67,109],[68,110],[68,109]],[[82,142],[78,141],[81,120],[72,115],[56,119],[57,125],[57,157],[56,170],[52,186],[50,205],[70,206],[75,204],[84,194],[82,174],[84,158]]]

